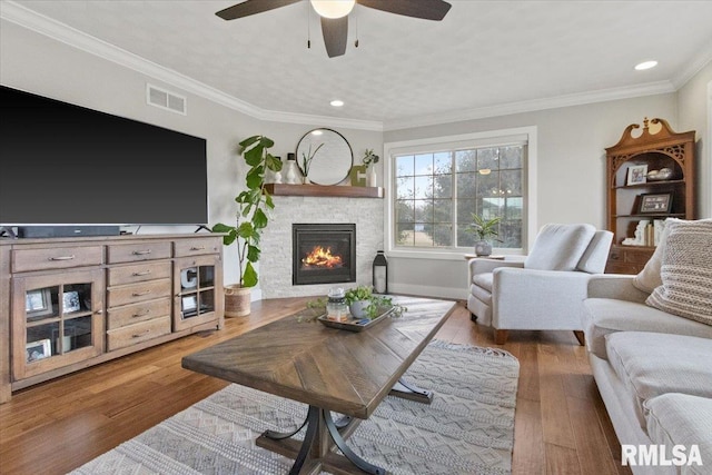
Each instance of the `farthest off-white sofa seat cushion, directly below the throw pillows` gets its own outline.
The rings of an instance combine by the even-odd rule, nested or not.
[[[583,328],[589,352],[606,358],[605,336],[615,331],[653,331],[712,339],[712,327],[656,308],[613,298],[587,298]]]

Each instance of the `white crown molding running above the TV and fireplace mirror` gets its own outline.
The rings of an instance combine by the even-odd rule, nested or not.
[[[227,95],[172,69],[162,67],[138,55],[134,55],[132,52],[121,49],[115,44],[77,30],[68,24],[40,14],[13,1],[2,1],[0,6],[0,18],[3,20],[19,24],[107,61],[129,68],[152,79],[160,80],[167,85],[180,88],[184,91],[200,96],[258,120],[306,125],[328,123],[330,127],[376,131],[383,130],[383,123],[380,121],[343,119],[338,117],[312,116],[307,113],[293,113],[261,109],[253,103]]]

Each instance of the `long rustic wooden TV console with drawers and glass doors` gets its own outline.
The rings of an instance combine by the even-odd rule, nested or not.
[[[222,324],[220,235],[0,239],[0,403]]]

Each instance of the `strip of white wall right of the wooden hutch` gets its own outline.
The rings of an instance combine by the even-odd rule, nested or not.
[[[678,91],[680,129],[695,130],[698,218],[712,218],[712,62]]]

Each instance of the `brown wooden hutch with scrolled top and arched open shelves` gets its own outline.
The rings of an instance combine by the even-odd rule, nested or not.
[[[611,274],[643,269],[655,250],[655,221],[695,217],[694,130],[676,133],[665,120],[647,118],[642,132],[636,129],[637,123],[627,126],[605,149],[606,220],[614,235],[605,271]],[[636,231],[635,244],[629,244]]]

